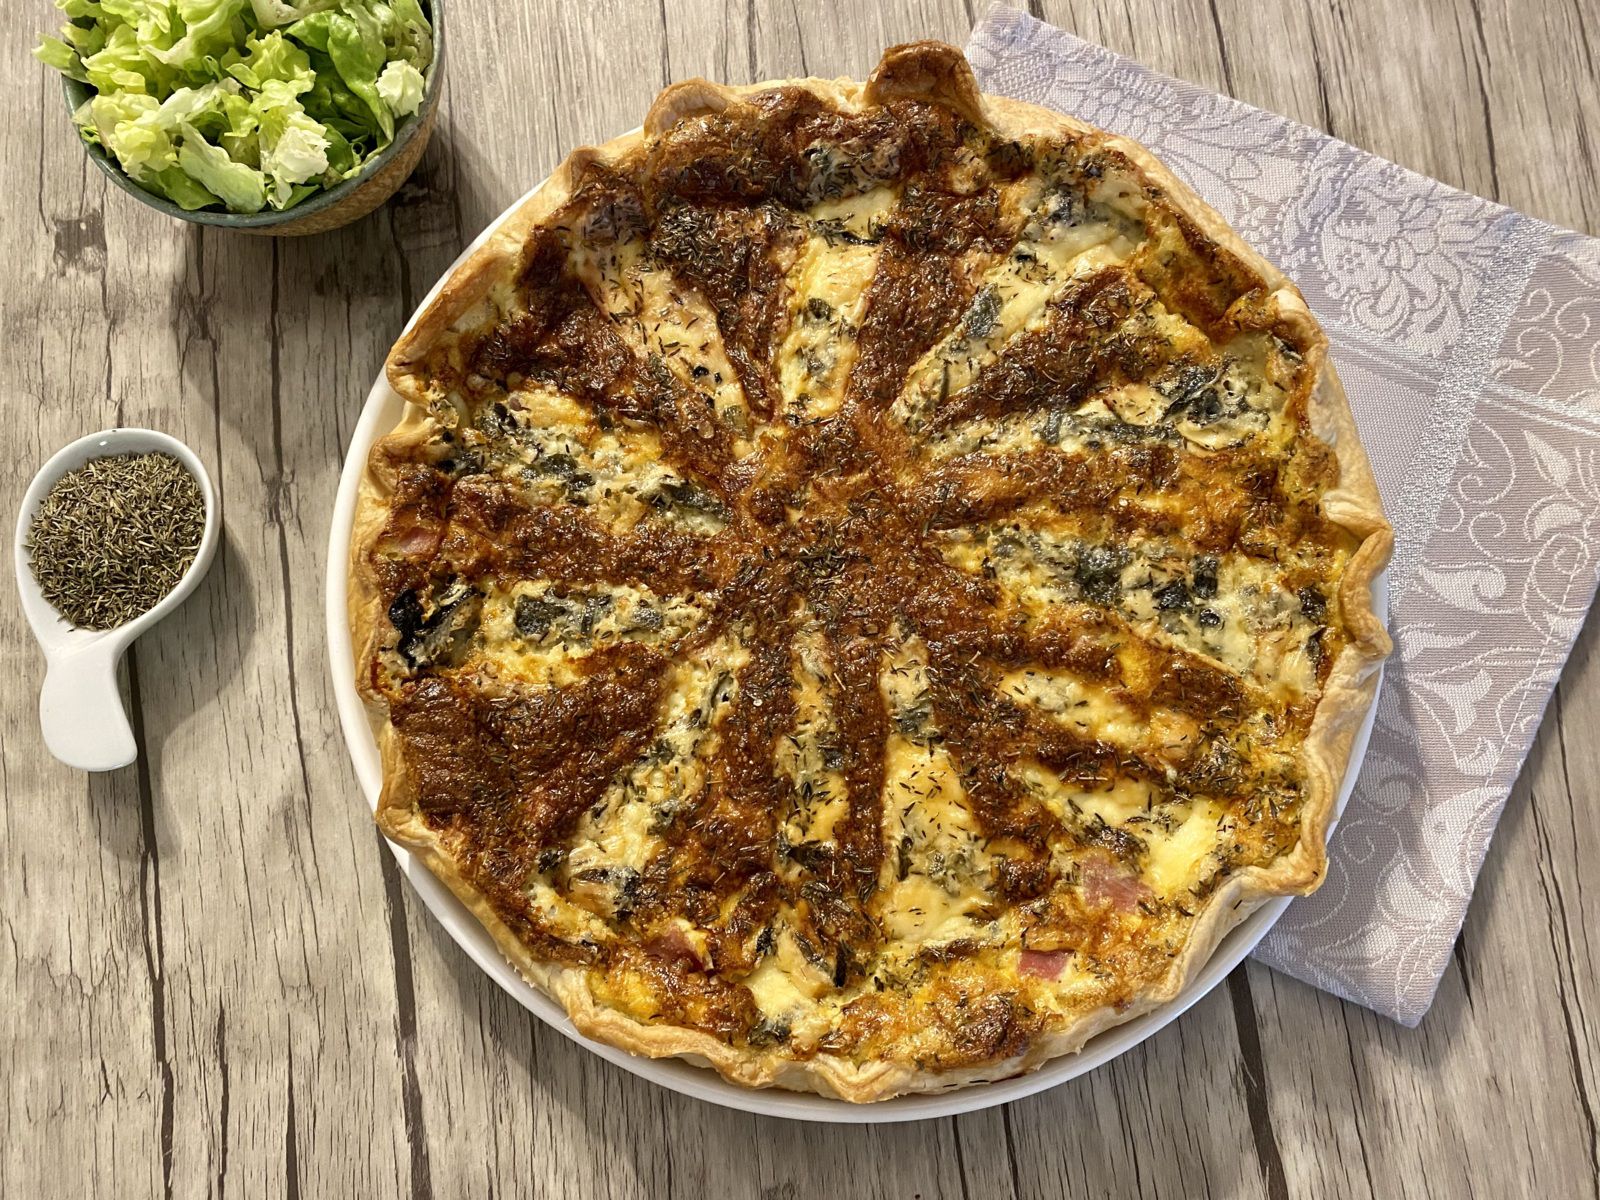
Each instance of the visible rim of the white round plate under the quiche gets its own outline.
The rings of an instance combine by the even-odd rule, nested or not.
[[[538,187],[530,190],[528,195],[533,195],[536,190]],[[528,197],[525,195],[523,200],[526,198]],[[432,304],[440,288],[443,288],[445,280],[454,274],[456,267],[459,267],[474,250],[482,246],[483,242],[488,240],[488,237],[499,227],[499,224],[520,205],[522,200],[501,213],[499,218],[496,218],[494,222],[461,253],[461,258],[450,266],[450,270],[440,277],[438,283],[434,285],[434,290],[418,306],[418,312],[422,312],[422,309]],[[411,315],[411,322],[416,322],[416,314]],[[406,328],[410,328],[410,323]],[[366,795],[368,805],[374,810],[378,808],[378,794],[382,789],[382,763],[378,755],[378,739],[371,718],[366,714],[366,706],[362,702],[360,693],[355,690],[355,653],[350,645],[350,627],[346,616],[346,574],[347,563],[350,562],[350,525],[355,520],[355,499],[360,491],[362,475],[366,470],[366,453],[378,438],[400,424],[400,418],[403,414],[405,400],[400,398],[400,395],[389,386],[389,381],[382,376],[382,373],[379,373],[378,379],[373,382],[373,390],[366,397],[366,408],[362,410],[362,419],[355,426],[355,434],[350,437],[350,450],[344,461],[344,474],[339,477],[339,494],[333,506],[333,528],[328,536],[328,664],[333,670],[333,691],[339,706],[339,722],[344,726],[344,739],[350,747],[350,760],[355,765],[355,778],[362,784],[362,792]],[[1373,582],[1373,602],[1376,605],[1376,611],[1387,611],[1387,574],[1379,576]],[[1355,787],[1355,776],[1360,773],[1362,758],[1366,755],[1366,741],[1371,736],[1376,712],[1378,702],[1374,699],[1373,707],[1366,714],[1366,720],[1355,734],[1355,746],[1350,750],[1350,765],[1344,776],[1344,786],[1339,789],[1339,802],[1334,819],[1338,819],[1338,813],[1344,811],[1344,805],[1350,798],[1350,790]],[[1178,997],[1157,1010],[1128,1021],[1126,1024],[1115,1026],[1114,1029],[1107,1029],[1104,1034],[1090,1038],[1090,1042],[1077,1054],[1053,1059],[1038,1070],[1027,1075],[1018,1075],[1016,1078],[995,1080],[994,1083],[978,1083],[970,1088],[960,1088],[957,1091],[931,1096],[899,1096],[877,1104],[850,1104],[846,1101],[829,1099],[826,1096],[782,1091],[778,1088],[768,1088],[765,1091],[741,1088],[734,1083],[728,1083],[709,1067],[694,1067],[680,1059],[643,1058],[584,1037],[566,1018],[566,1011],[558,1003],[517,974],[510,963],[507,963],[501,955],[499,947],[494,946],[494,939],[490,938],[490,934],[478,923],[477,917],[474,917],[467,907],[456,899],[450,888],[438,882],[434,872],[400,846],[390,843],[389,848],[400,861],[400,870],[408,880],[411,880],[411,886],[416,888],[418,896],[422,898],[422,902],[427,904],[434,917],[438,918],[438,923],[445,926],[445,931],[456,939],[456,944],[467,952],[472,962],[482,966],[490,979],[504,987],[534,1016],[581,1046],[592,1050],[600,1058],[608,1062],[614,1062],[624,1070],[634,1072],[640,1078],[648,1078],[651,1083],[659,1083],[664,1088],[672,1088],[685,1096],[694,1096],[696,1099],[710,1101],[712,1104],[722,1104],[730,1109],[742,1109],[746,1112],[755,1112],[768,1117],[790,1117],[795,1120],[840,1122],[853,1125],[923,1120],[931,1117],[949,1117],[958,1112],[974,1112],[978,1109],[987,1109],[995,1104],[1021,1099],[1022,1096],[1032,1096],[1035,1091],[1053,1088],[1058,1083],[1066,1083],[1070,1078],[1077,1078],[1078,1075],[1093,1070],[1102,1062],[1107,1062],[1144,1042],[1147,1037],[1198,1002],[1206,992],[1216,987],[1229,971],[1238,966],[1238,963],[1250,955],[1250,952],[1256,947],[1256,942],[1266,938],[1267,930],[1277,923],[1291,899],[1283,896],[1262,904],[1221,941],[1210,962],[1206,962],[1200,973],[1189,981],[1189,986]]]

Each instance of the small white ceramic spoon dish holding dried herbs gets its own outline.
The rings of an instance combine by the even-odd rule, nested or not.
[[[184,578],[155,608],[115,629],[77,629],[45,600],[38,581],[34,579],[27,558],[27,534],[34,515],[45,493],[69,470],[82,467],[93,458],[150,451],[176,458],[200,485],[200,494],[205,498],[200,552]],[[216,491],[205,464],[182,442],[154,429],[107,429],[80,437],[56,451],[34,477],[16,518],[16,584],[22,594],[22,613],[45,651],[46,674],[38,694],[38,723],[45,733],[45,746],[67,766],[83,771],[114,771],[139,757],[133,726],[128,725],[128,714],[117,691],[117,664],[139,634],[178,608],[205,578],[211,558],[216,557],[221,525]]]

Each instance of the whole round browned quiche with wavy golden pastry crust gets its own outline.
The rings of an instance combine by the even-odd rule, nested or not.
[[[938,43],[680,83],[387,373],[378,821],[589,1037],[994,1080],[1322,878],[1392,534],[1299,291],[1139,146]]]

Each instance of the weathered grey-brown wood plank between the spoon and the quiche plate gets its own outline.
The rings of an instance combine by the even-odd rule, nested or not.
[[[109,229],[128,211],[146,219],[112,211]],[[349,890],[376,878],[378,848],[347,803],[326,699],[317,565],[331,493],[318,488],[301,512],[286,464],[331,478],[334,408],[315,398],[349,394],[365,355],[346,334],[362,322],[360,298],[392,278],[362,288],[352,277],[325,296],[338,318],[294,339],[317,363],[306,379],[293,346],[277,346],[277,304],[280,293],[315,302],[315,282],[286,282],[275,243],[189,230],[149,245],[171,310],[141,302],[150,275],[117,282],[128,320],[114,376],[133,419],[208,456],[229,530],[205,590],[136,651],[162,866],[170,1186],[205,1192],[224,1162],[246,1192],[384,1186],[403,1136],[390,1102],[400,1078],[387,1021],[371,1014],[394,1013],[395,998],[390,973],[347,971],[387,938],[381,910]],[[347,248],[344,261],[392,277],[371,246]],[[333,1112],[370,1134],[328,1138],[318,1114]]]

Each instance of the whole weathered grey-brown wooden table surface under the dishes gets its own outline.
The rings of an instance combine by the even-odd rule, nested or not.
[[[366,389],[458,250],[666,82],[859,75],[963,0],[451,0],[438,136],[395,203],[270,242],[110,189],[0,8],[8,514],[80,434],[155,426],[221,488],[200,592],[128,654],[144,757],[45,752],[0,590],[3,1197],[1597,1194],[1600,654],[1578,646],[1418,1030],[1250,965],[1005,1109],[806,1126],[688,1101],[544,1029],[443,934],[334,717],[323,547]],[[1600,232],[1597,0],[1046,0],[1082,37]],[[1400,16],[1405,13],[1405,16]],[[1590,730],[1584,734],[1584,730]]]

